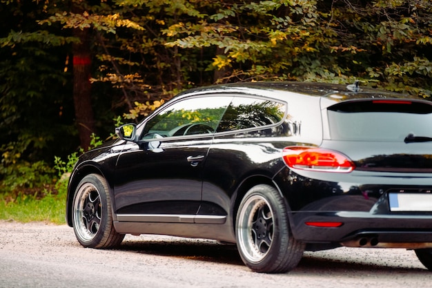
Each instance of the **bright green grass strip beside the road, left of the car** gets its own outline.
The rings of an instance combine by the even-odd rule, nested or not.
[[[0,220],[65,224],[66,188],[43,194],[0,194]]]

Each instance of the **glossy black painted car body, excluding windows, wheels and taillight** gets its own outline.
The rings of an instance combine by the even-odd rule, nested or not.
[[[391,212],[388,198],[389,192],[431,193],[432,142],[335,141],[326,122],[326,108],[337,103],[401,95],[367,89],[352,93],[333,84],[251,83],[190,90],[173,102],[197,95],[276,99],[286,103],[286,117],[259,128],[139,140],[150,115],[137,126],[133,142],[117,140],[80,157],[68,188],[70,226],[77,183],[88,173],[99,173],[108,181],[120,233],[235,242],[233,227],[242,196],[266,183],[286,199],[297,240],[323,248],[355,246],[360,238],[432,243],[432,211]],[[294,145],[340,151],[356,168],[351,173],[290,169],[282,150]],[[343,224],[328,228],[306,222]]]

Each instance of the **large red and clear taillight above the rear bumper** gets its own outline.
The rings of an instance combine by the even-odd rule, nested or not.
[[[348,173],[355,168],[345,155],[322,148],[286,147],[282,157],[288,167],[295,169]]]

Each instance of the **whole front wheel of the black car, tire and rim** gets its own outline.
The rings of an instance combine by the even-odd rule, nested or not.
[[[72,225],[84,247],[112,248],[123,241],[124,234],[114,229],[108,184],[101,175],[86,175],[79,182],[72,202]]]

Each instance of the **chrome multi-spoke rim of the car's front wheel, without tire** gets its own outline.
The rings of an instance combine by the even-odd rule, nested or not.
[[[101,195],[96,186],[82,184],[74,204],[74,227],[81,240],[90,241],[95,237],[101,224],[101,214]]]

